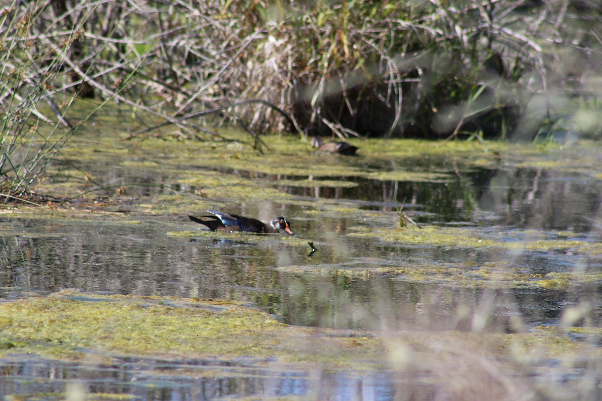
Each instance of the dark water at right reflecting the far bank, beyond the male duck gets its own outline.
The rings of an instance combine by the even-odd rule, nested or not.
[[[406,163],[412,165],[412,161]],[[447,171],[452,166],[443,163],[430,168]],[[596,177],[579,173],[533,168],[495,170],[470,167],[456,171],[452,169],[448,174],[449,179],[443,182],[345,176],[334,178],[352,182],[355,186],[332,188],[320,186],[321,179],[314,177],[315,186],[308,188],[290,183],[306,180],[307,176],[227,171],[247,179],[271,182],[282,192],[302,198],[345,200],[364,209],[395,210],[405,202],[405,210],[409,208],[418,212],[418,222],[479,222],[538,230],[573,230],[577,233],[589,233],[592,229],[597,233],[602,231],[602,223],[595,227],[602,200],[602,182]],[[333,177],[325,179],[332,180]],[[280,185],[281,181],[287,182],[287,185]]]

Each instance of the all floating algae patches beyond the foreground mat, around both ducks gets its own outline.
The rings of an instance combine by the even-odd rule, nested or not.
[[[108,121],[108,120],[107,120]],[[167,132],[167,131],[166,131]],[[101,215],[104,221],[123,220],[123,214],[113,211],[121,210],[122,203],[127,201],[126,210],[132,215],[173,215],[179,225],[170,228],[169,235],[184,238],[232,239],[246,243],[278,242],[291,246],[306,247],[306,241],[299,236],[255,236],[248,233],[211,233],[204,227],[188,222],[183,224],[187,214],[205,214],[205,210],[224,209],[245,202],[257,204],[270,200],[280,204],[291,204],[297,207],[298,213],[321,221],[324,218],[346,218],[347,225],[353,222],[365,224],[361,227],[344,228],[350,237],[361,237],[368,240],[382,240],[397,245],[439,248],[482,249],[488,252],[505,252],[500,262],[472,266],[470,262],[461,264],[421,266],[391,266],[386,261],[371,265],[340,266],[299,266],[300,271],[320,271],[322,274],[349,275],[353,277],[370,277],[370,275],[397,275],[403,280],[438,281],[446,285],[461,286],[539,286],[546,288],[563,288],[576,283],[600,280],[598,275],[571,275],[555,277],[554,275],[533,275],[511,268],[503,262],[509,254],[520,251],[541,251],[554,253],[583,254],[586,256],[602,255],[602,243],[588,243],[571,240],[573,233],[544,233],[541,231],[515,230],[500,228],[498,231],[484,230],[481,227],[433,227],[426,226],[422,230],[409,226],[405,229],[394,227],[398,219],[393,212],[362,210],[358,203],[341,199],[327,200],[307,198],[300,200],[283,186],[332,186],[349,188],[356,183],[345,179],[329,179],[329,177],[360,177],[375,180],[412,180],[441,182],[456,177],[445,173],[457,165],[459,174],[473,166],[498,168],[504,166],[526,166],[538,168],[557,168],[569,165],[579,171],[595,174],[598,167],[599,147],[595,142],[584,142],[574,148],[557,146],[526,147],[523,145],[505,144],[503,142],[477,141],[420,141],[414,139],[370,139],[359,141],[351,139],[360,147],[357,158],[345,158],[335,155],[315,153],[307,141],[294,136],[265,137],[270,150],[264,155],[252,150],[243,141],[249,142],[249,136],[240,132],[222,132],[234,142],[220,144],[218,142],[178,141],[173,138],[142,139],[116,142],[125,133],[118,130],[114,135],[98,135],[94,132],[82,132],[78,140],[90,141],[88,146],[75,146],[64,149],[64,155],[73,160],[75,165],[105,165],[124,170],[146,171],[150,176],[157,176],[161,185],[173,184],[179,191],[164,191],[152,198],[141,200],[128,197],[126,194],[114,193],[103,204],[93,201],[60,207],[58,212],[51,209],[26,209],[22,212],[32,218],[52,219],[96,219]],[[238,142],[236,142],[238,141]],[[116,146],[117,144],[117,146]],[[432,162],[431,162],[432,161]],[[399,164],[397,164],[399,162]],[[411,171],[403,169],[405,165],[415,166]],[[589,168],[589,170],[587,170]],[[592,170],[594,169],[594,170]],[[591,170],[591,171],[590,171]],[[45,183],[40,192],[52,194],[81,194],[95,188],[85,174],[61,166],[61,177],[72,176],[69,182]],[[88,180],[88,181],[87,181]],[[46,186],[48,185],[48,186]],[[164,188],[164,187],[163,187]],[[188,191],[188,192],[187,192]],[[97,194],[92,193],[94,198]],[[301,206],[306,206],[302,208]],[[112,211],[113,210],[113,211]],[[195,212],[197,211],[197,212]],[[32,213],[33,212],[33,213]],[[67,212],[67,213],[66,213]],[[178,220],[179,219],[179,220]],[[128,224],[134,224],[131,218]],[[293,221],[293,229],[295,227]],[[184,231],[181,231],[184,230]],[[349,232],[353,231],[353,232]],[[299,233],[302,234],[302,233]],[[47,234],[52,236],[54,234]],[[317,270],[316,270],[317,269]]]

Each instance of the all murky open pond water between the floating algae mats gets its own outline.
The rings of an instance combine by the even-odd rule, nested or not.
[[[528,331],[557,325],[562,311],[588,302],[589,325],[601,326],[602,287],[595,282],[549,289],[526,285],[453,285],[437,277],[407,280],[404,275],[345,274],[387,266],[482,266],[500,260],[517,271],[600,272],[602,259],[566,251],[505,248],[461,248],[391,243],[348,236],[355,227],[389,227],[396,208],[421,224],[481,227],[484,236],[518,241],[525,236],[554,237],[570,231],[571,239],[595,242],[602,182],[579,172],[538,168],[458,167],[447,159],[374,160],[359,156],[344,163],[366,169],[435,169],[446,178],[427,182],[377,180],[356,176],[328,177],[353,185],[296,186],[306,176],[214,169],[263,182],[294,196],[288,202],[246,202],[226,208],[264,221],[287,216],[297,237],[317,247],[285,246],[278,237],[255,242],[219,237],[173,236],[203,230],[187,212],[149,215],[128,203],[114,213],[90,219],[44,219],[6,213],[0,218],[0,298],[51,293],[64,288],[85,292],[225,298],[261,308],[291,325],[366,330],[487,332]],[[405,163],[405,164],[404,164]],[[93,169],[93,167],[90,167]],[[461,172],[458,169],[463,169]],[[158,195],[199,190],[173,184],[175,176],[152,169],[106,171],[96,168],[105,185],[128,187],[132,205]],[[198,173],[211,169],[199,168]],[[320,178],[315,178],[319,183]],[[285,184],[282,184],[285,182]],[[355,207],[356,214],[336,207]],[[308,213],[313,209],[319,213]],[[309,206],[308,206],[309,205]],[[203,214],[204,210],[196,210]],[[68,216],[66,216],[68,217]],[[122,224],[121,219],[129,221]],[[134,223],[132,223],[134,222]],[[489,230],[489,231],[488,231]],[[499,234],[503,231],[503,234]],[[252,234],[249,238],[252,239]],[[320,268],[320,269],[316,269]],[[305,271],[306,270],[306,271]],[[466,274],[470,274],[467,271]],[[482,320],[475,316],[483,314]],[[83,383],[88,393],[126,393],[137,399],[220,399],[231,396],[311,396],[331,400],[392,400],[406,379],[388,372],[268,372],[255,366],[222,361],[123,361],[118,366],[72,366],[48,361],[0,361],[0,393],[60,393],[66,384]],[[205,375],[206,370],[220,376]],[[178,371],[176,375],[174,371]],[[197,371],[203,371],[199,373]],[[186,372],[181,375],[181,372]],[[196,372],[196,373],[195,373]],[[428,384],[416,399],[433,396]],[[45,396],[51,399],[51,396]]]

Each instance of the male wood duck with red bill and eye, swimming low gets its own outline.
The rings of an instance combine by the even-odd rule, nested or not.
[[[269,234],[279,233],[279,230],[284,230],[288,234],[293,235],[290,221],[282,216],[273,219],[268,225],[258,219],[249,217],[215,212],[214,210],[207,210],[207,212],[213,213],[215,216],[188,217],[192,221],[206,225],[211,231],[249,231],[250,233]]]

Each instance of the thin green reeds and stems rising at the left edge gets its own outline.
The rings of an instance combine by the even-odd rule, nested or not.
[[[4,202],[43,200],[31,192],[31,186],[82,124],[118,96],[120,88],[114,88],[90,114],[78,121],[68,117],[75,96],[87,90],[88,73],[107,47],[104,42],[96,52],[83,55],[84,26],[96,11],[95,5],[80,4],[52,19],[46,1],[13,1],[0,10],[0,197]],[[131,77],[131,73],[124,76],[121,85]]]

